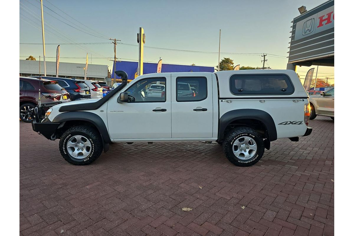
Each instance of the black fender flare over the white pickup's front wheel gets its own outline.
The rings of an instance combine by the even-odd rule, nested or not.
[[[105,123],[103,122],[102,118],[95,113],[89,111],[68,111],[58,114],[56,117],[54,117],[52,122],[62,123],[64,121],[74,120],[88,121],[92,123],[101,134],[103,142],[107,144],[112,143]]]

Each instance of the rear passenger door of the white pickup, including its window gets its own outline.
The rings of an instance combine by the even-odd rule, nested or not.
[[[206,76],[172,75],[172,138],[212,138],[212,80]]]

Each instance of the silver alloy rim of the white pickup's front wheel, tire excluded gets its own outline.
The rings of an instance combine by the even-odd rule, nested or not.
[[[84,159],[90,155],[92,144],[85,136],[75,135],[69,139],[67,150],[70,156],[76,159]]]

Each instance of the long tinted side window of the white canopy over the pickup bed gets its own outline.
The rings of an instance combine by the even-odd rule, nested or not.
[[[230,90],[234,95],[287,95],[294,92],[294,87],[285,74],[233,75]]]

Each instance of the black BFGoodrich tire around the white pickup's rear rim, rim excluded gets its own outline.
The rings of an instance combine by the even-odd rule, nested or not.
[[[257,144],[257,151],[255,156],[250,160],[242,160],[234,155],[233,143],[236,139],[247,136],[255,140]],[[223,150],[227,159],[236,166],[252,166],[261,160],[264,153],[264,142],[259,134],[252,128],[249,127],[238,127],[230,130],[223,142]]]

